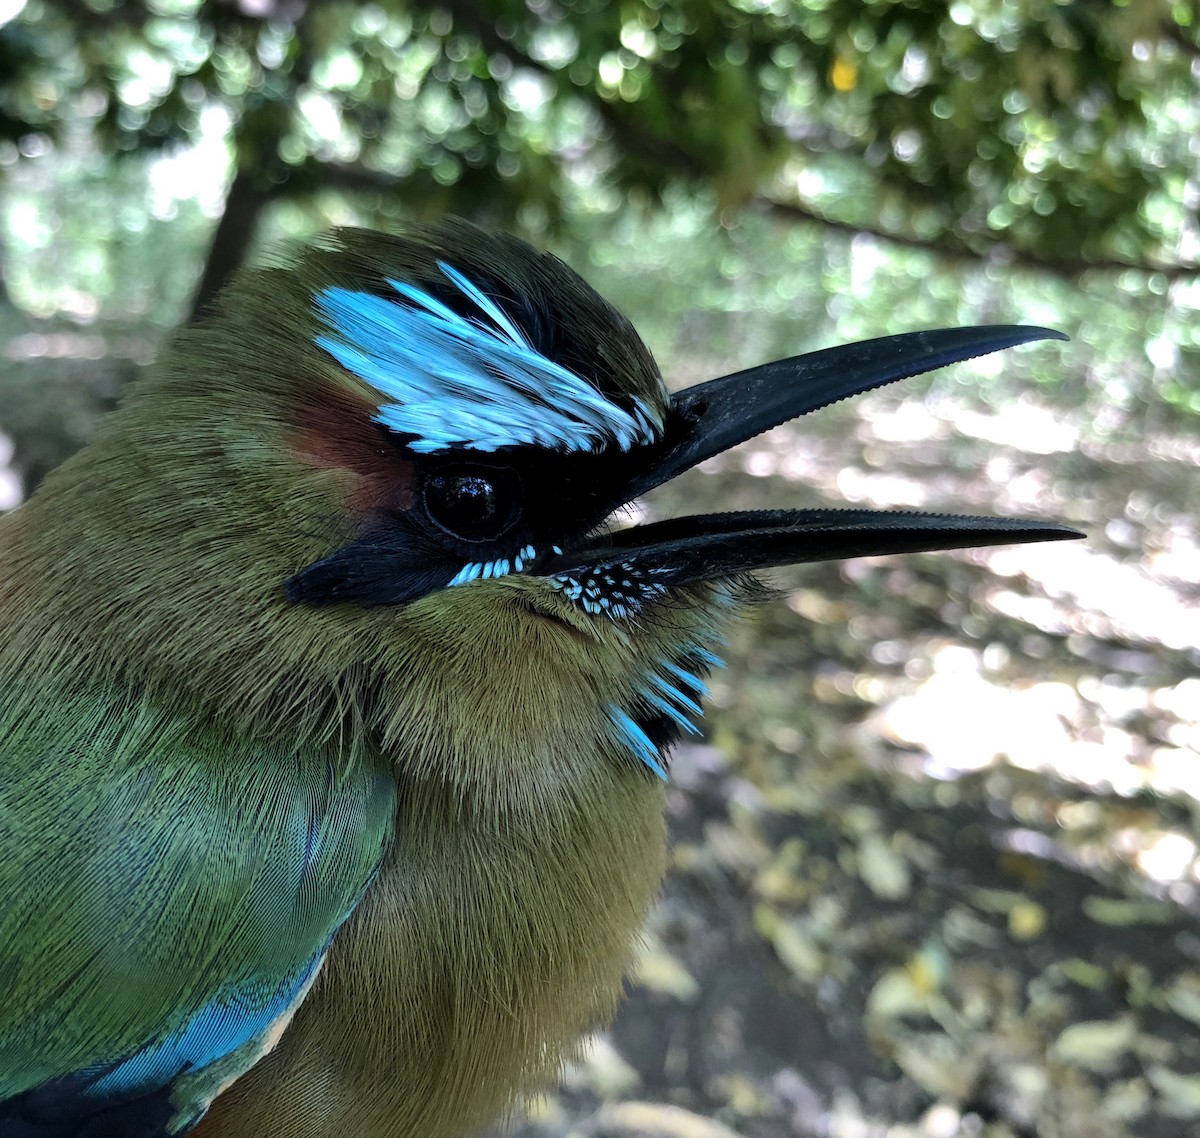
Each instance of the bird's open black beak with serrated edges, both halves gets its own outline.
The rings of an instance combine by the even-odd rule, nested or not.
[[[671,399],[662,439],[638,455],[625,501],[788,419],[872,388],[1033,340],[1045,328],[997,325],[884,336],[764,364]],[[649,461],[647,461],[649,460]],[[618,503],[613,503],[617,505]],[[862,509],[708,514],[592,538],[539,571],[628,575],[664,586],[811,561],[1082,537],[1056,522]]]

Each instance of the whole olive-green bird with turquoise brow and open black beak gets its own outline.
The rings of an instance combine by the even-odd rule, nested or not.
[[[668,391],[466,221],[241,270],[0,519],[0,1138],[455,1138],[606,1024],[758,570],[1078,537],[613,519],[838,400],[1043,339]]]

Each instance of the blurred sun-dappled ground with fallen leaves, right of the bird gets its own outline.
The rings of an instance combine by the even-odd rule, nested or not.
[[[1099,455],[1034,403],[824,414],[652,513],[870,497],[1088,539],[775,577],[676,756],[629,999],[516,1133],[1200,1132],[1200,448]]]

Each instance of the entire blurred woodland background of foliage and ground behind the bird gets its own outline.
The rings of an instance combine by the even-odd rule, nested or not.
[[[0,0],[0,508],[244,260],[457,214],[668,383],[1044,343],[646,503],[1057,519],[778,573],[613,1030],[517,1131],[1200,1133],[1200,29],[1168,0]]]

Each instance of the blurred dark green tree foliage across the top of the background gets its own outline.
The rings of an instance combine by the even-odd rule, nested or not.
[[[1192,6],[7,0],[5,167],[196,143],[264,200],[546,226],[708,187],[1061,270],[1192,264]],[[379,200],[386,198],[388,200]]]

